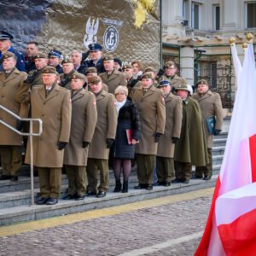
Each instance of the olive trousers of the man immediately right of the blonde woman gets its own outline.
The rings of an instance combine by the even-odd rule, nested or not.
[[[137,179],[144,185],[150,185],[153,182],[155,155],[154,154],[136,154],[137,160]]]

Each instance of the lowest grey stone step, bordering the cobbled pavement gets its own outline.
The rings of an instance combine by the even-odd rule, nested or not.
[[[130,189],[128,193],[112,193],[109,192],[106,197],[86,197],[84,201],[63,201],[60,200],[55,206],[20,206],[1,209],[0,226],[7,224],[15,224],[40,218],[52,218],[74,212],[86,212],[92,209],[100,209],[103,207],[113,207],[127,204],[135,201],[143,201],[147,199],[157,198],[166,195],[175,195],[185,193],[197,189],[210,188],[215,185],[217,176],[213,176],[211,180],[191,180],[189,184],[175,183],[170,187],[154,187],[153,190],[146,189]]]

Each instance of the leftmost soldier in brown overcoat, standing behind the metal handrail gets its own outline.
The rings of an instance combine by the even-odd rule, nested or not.
[[[16,66],[16,57],[12,52],[3,54],[3,72],[0,73],[0,105],[8,108],[21,118],[27,117],[28,105],[15,100],[15,95],[20,88],[26,73],[20,72]],[[12,127],[20,130],[20,122],[9,113],[0,110],[0,119]],[[4,125],[0,125],[0,154],[3,175],[0,180],[18,180],[16,172],[22,164],[21,143],[22,137]]]

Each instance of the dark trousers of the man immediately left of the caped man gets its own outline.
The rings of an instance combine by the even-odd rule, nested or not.
[[[158,181],[171,182],[175,177],[174,161],[171,157],[156,157],[156,175]]]

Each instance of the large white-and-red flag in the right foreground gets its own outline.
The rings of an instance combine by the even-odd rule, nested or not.
[[[236,101],[212,207],[196,256],[256,255],[256,71],[253,44]]]

